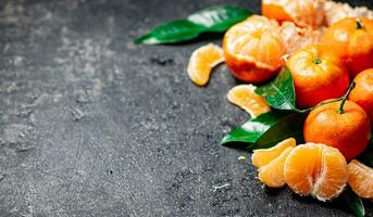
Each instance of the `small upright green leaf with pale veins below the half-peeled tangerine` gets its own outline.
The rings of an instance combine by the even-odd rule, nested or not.
[[[287,67],[284,67],[274,80],[257,88],[256,93],[264,97],[272,107],[298,111],[293,77]]]

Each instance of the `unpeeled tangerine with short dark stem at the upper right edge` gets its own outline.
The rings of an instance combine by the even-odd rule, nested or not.
[[[322,37],[322,43],[335,50],[350,71],[351,78],[373,67],[373,21],[347,17],[333,24]]]

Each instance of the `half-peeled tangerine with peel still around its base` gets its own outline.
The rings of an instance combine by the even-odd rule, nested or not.
[[[286,53],[278,24],[253,15],[229,28],[223,40],[225,63],[232,74],[248,82],[262,82],[277,75]]]

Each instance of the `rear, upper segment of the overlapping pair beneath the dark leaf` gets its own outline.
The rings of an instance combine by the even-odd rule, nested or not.
[[[270,149],[258,149],[253,150],[251,155],[252,165],[258,168],[270,164],[276,157],[278,157],[286,149],[295,148],[297,142],[294,138],[286,139],[282,142],[278,142],[275,146]]]

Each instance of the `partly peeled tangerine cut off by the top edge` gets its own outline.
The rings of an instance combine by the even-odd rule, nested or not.
[[[323,0],[262,0],[262,14],[278,22],[316,27],[324,21]]]

